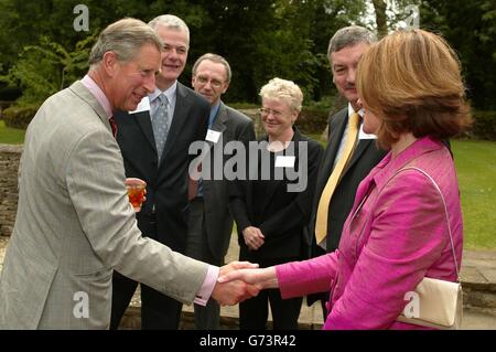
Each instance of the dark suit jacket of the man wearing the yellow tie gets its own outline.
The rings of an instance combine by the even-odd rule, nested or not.
[[[321,247],[315,245],[315,218],[319,207],[319,201],[322,195],[322,191],[327,183],[327,180],[333,171],[334,159],[336,158],[339,143],[343,138],[344,130],[348,120],[348,108],[342,109],[334,115],[330,120],[328,126],[328,143],[324,151],[324,157],[319,170],[319,177],[316,181],[315,198],[312,207],[312,220],[310,222],[309,233],[312,236],[314,243],[314,255],[323,254]],[[375,139],[362,139],[355,148],[352,159],[343,171],[343,175],[336,185],[336,189],[331,199],[327,216],[327,237],[326,247],[327,252],[333,252],[337,248],[341,239],[341,233],[343,231],[344,222],[352,210],[353,202],[355,201],[355,193],[358,184],[370,172],[370,170],[386,156],[385,150],[380,150],[376,147]]]

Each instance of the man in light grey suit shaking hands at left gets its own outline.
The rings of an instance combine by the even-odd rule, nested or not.
[[[237,265],[219,270],[138,230],[112,114],[134,109],[154,89],[161,50],[143,22],[110,24],[88,74],[46,99],[30,124],[0,278],[0,329],[107,329],[114,269],[188,303],[256,294],[239,281],[216,284]]]

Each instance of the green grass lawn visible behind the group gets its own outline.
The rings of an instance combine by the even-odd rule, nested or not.
[[[310,135],[322,145],[321,135]],[[21,145],[24,130],[0,120],[0,143]],[[465,225],[465,248],[496,249],[496,142],[453,140]]]

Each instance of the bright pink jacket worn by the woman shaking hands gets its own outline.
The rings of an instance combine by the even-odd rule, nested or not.
[[[422,169],[441,189],[461,266],[463,220],[454,162],[442,143],[424,137],[392,160],[387,154],[360,183],[337,250],[276,267],[283,298],[331,287],[324,329],[420,328],[396,321],[407,303],[405,294],[424,276],[456,280],[441,196],[421,172],[398,172],[405,167]]]

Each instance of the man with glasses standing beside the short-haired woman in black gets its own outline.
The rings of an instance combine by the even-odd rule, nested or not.
[[[229,63],[216,54],[205,54],[193,65],[193,88],[211,103],[207,143],[209,145],[208,179],[200,179],[198,186],[191,194],[186,255],[214,265],[223,265],[233,232],[233,217],[228,210],[229,194],[224,169],[224,146],[240,141],[248,146],[255,140],[254,121],[246,115],[228,107],[220,100],[231,78]],[[223,157],[215,163],[214,157]],[[203,170],[205,171],[205,170]],[[222,179],[215,177],[220,175]],[[211,299],[205,307],[195,305],[196,329],[219,329],[219,305]]]

